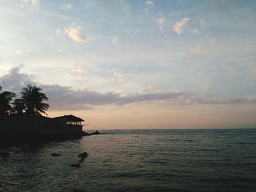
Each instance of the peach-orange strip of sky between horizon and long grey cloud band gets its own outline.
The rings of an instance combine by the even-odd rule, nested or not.
[[[244,106],[243,106],[244,107]],[[58,112],[49,111],[49,117],[75,115],[89,126],[83,129],[165,129],[165,128],[250,128],[254,115],[244,115],[239,106],[162,107],[132,104],[122,107],[95,107],[95,110]]]

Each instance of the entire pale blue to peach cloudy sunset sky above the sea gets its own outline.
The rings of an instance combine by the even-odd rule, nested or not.
[[[0,1],[0,85],[88,129],[256,128],[256,1]]]

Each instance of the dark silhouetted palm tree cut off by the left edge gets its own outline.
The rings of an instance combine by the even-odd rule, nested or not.
[[[2,92],[2,88],[0,86],[0,116],[10,114],[10,111],[12,110],[10,101],[12,101],[12,98],[14,98],[15,96],[15,93],[9,91]]]

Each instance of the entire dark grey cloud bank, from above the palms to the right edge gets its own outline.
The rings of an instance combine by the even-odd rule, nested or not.
[[[19,93],[24,85],[34,82],[34,77],[20,72],[16,66],[7,74],[0,77],[0,85],[4,90]],[[211,101],[199,99],[188,93],[159,92],[159,93],[134,93],[121,96],[119,93],[99,93],[87,89],[74,90],[71,87],[60,85],[39,85],[49,98],[50,110],[91,110],[92,106],[106,104],[132,104],[151,101],[168,101],[170,104],[255,104],[256,99],[230,99],[227,101]]]

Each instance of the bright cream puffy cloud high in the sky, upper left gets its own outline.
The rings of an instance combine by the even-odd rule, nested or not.
[[[83,37],[83,33],[82,33],[82,27],[77,26],[69,26],[67,28],[65,28],[65,33],[75,42],[88,42],[89,41],[89,37],[85,38]]]

